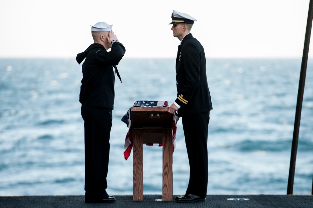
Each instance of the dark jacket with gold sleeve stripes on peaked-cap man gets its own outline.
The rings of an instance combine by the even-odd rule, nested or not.
[[[207,112],[212,109],[201,43],[189,33],[178,46],[176,58],[178,116]]]

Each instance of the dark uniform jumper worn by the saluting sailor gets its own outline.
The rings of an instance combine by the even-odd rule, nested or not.
[[[113,109],[115,74],[112,65],[117,65],[125,54],[125,47],[114,42],[108,52],[99,43],[91,44],[76,60],[82,65],[83,79],[79,101],[83,107],[98,106]]]

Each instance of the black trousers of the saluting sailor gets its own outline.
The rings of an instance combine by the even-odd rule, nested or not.
[[[109,166],[112,110],[104,107],[83,107],[85,126],[85,191],[86,196],[107,198],[106,177]]]

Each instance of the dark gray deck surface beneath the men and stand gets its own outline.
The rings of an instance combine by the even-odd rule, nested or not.
[[[175,197],[175,196],[174,196]],[[133,201],[132,195],[115,195],[110,204],[86,204],[84,195],[64,196],[0,196],[0,208],[312,208],[313,195],[208,195],[205,202],[177,203],[160,201],[162,195],[144,195],[143,201]],[[233,200],[228,200],[233,199]],[[249,200],[248,200],[249,199]]]

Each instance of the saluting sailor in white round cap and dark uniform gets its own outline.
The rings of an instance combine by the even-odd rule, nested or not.
[[[115,73],[121,80],[116,65],[125,47],[113,33],[112,25],[99,22],[90,26],[94,43],[76,57],[79,64],[86,58],[79,99],[85,127],[85,203],[110,203],[115,201],[113,195],[106,193],[114,82]]]

